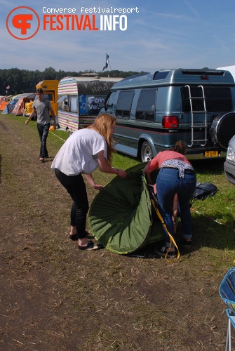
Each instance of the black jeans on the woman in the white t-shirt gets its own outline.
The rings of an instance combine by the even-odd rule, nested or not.
[[[78,176],[66,176],[65,173],[62,173],[57,168],[55,168],[55,176],[74,200],[70,213],[70,225],[76,227],[77,237],[83,239],[86,237],[86,215],[89,209],[83,176],[81,174]]]

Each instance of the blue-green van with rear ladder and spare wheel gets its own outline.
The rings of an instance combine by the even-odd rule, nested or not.
[[[235,134],[234,99],[229,71],[170,69],[114,84],[100,113],[116,116],[116,150],[142,161],[178,140],[189,158],[220,157]]]

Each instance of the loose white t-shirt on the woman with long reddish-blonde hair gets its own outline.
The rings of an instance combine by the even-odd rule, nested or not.
[[[100,133],[89,128],[79,129],[62,145],[51,168],[58,168],[67,176],[92,173],[98,168],[97,154],[102,150],[107,159],[107,143]]]

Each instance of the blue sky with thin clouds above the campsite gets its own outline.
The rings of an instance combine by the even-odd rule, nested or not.
[[[109,53],[106,72],[235,65],[234,0],[17,2],[16,5],[13,1],[0,0],[1,69],[17,67],[43,71],[53,67],[65,71],[100,71],[105,65],[106,53]],[[41,25],[32,39],[19,40],[8,33],[6,18],[18,6],[30,7],[39,15]],[[95,15],[95,26],[99,30],[72,31],[69,27],[69,30],[51,31],[48,27],[43,30],[43,15],[46,15],[43,7],[75,8],[74,14],[79,18],[81,7],[109,8],[110,11],[111,8],[137,8],[138,12],[125,14],[126,30],[120,30],[118,25],[115,31],[101,31],[100,14],[87,13],[90,19]]]

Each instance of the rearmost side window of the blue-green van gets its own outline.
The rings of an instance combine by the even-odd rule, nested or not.
[[[135,119],[154,121],[156,105],[156,89],[142,89],[137,103]]]

